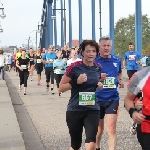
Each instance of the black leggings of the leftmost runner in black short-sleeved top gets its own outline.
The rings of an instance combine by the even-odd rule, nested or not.
[[[24,84],[24,87],[27,87],[27,80],[28,80],[29,72],[28,71],[19,71],[20,77],[20,85]]]

